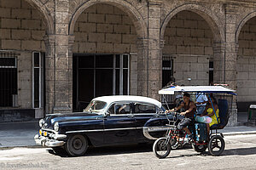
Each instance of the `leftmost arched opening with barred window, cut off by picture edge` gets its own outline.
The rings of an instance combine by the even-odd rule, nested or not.
[[[53,33],[44,6],[33,1],[1,1],[0,107],[4,122],[44,116],[44,36]],[[1,122],[0,121],[0,122]]]

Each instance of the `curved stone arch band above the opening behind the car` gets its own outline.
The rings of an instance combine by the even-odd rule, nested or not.
[[[73,35],[74,26],[76,21],[79,19],[80,14],[82,14],[86,8],[89,8],[90,6],[96,3],[106,3],[122,9],[131,18],[137,31],[137,37],[138,38],[147,37],[147,26],[143,21],[143,15],[140,14],[137,8],[132,6],[131,3],[127,3],[124,0],[90,0],[82,3],[71,17],[71,20],[69,22],[69,35]]]

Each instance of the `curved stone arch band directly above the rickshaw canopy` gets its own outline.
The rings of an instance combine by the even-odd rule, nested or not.
[[[161,39],[164,39],[166,26],[169,23],[169,21],[172,20],[172,17],[184,10],[188,10],[196,14],[199,14],[204,20],[207,21],[207,24],[210,26],[215,42],[224,42],[224,29],[220,27],[222,26],[222,24],[220,20],[218,20],[218,17],[215,14],[212,14],[211,10],[201,5],[192,3],[183,4],[173,9],[169,14],[166,15],[166,18],[163,20],[160,26]]]

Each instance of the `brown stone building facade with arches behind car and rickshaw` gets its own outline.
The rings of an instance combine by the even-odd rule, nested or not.
[[[1,0],[0,121],[79,111],[99,95],[160,99],[190,77],[237,90],[235,125],[236,105],[256,100],[255,45],[253,0]]]

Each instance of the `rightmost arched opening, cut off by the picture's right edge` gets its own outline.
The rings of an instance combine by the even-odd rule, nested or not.
[[[249,105],[256,104],[256,17],[247,19],[243,24],[237,35],[239,36],[236,65],[238,112],[247,112]]]

